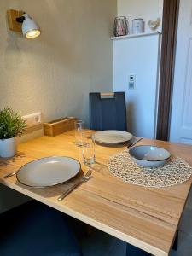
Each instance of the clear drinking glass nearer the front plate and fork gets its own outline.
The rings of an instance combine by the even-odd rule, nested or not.
[[[93,139],[86,139],[83,147],[83,159],[84,165],[91,166],[95,163],[96,152],[95,152],[95,141]]]

